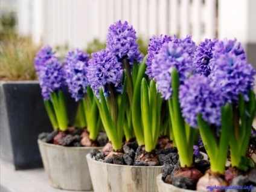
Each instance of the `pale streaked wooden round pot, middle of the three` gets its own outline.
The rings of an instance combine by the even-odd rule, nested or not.
[[[162,166],[130,166],[95,161],[86,155],[95,192],[157,192]]]

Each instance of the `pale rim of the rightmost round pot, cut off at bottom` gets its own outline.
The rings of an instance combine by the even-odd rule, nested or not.
[[[178,188],[178,187],[175,187],[174,185],[171,185],[171,184],[166,184],[164,181],[162,181],[162,174],[159,174],[157,177],[156,177],[156,183],[158,185],[158,191],[159,192],[170,192],[170,191],[173,191],[173,192],[191,192],[193,190],[184,190],[183,188]]]

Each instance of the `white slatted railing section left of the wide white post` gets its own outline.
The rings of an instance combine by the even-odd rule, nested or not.
[[[192,34],[196,42],[216,37],[217,0],[31,1],[37,10],[32,13],[34,41],[42,37],[52,46],[68,43],[85,48],[94,38],[106,40],[107,28],[120,19],[133,25],[144,39],[153,34]]]

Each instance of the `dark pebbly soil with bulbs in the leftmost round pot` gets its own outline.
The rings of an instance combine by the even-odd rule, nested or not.
[[[106,133],[100,132],[97,141],[92,141],[85,129],[75,127],[69,127],[65,132],[60,130],[54,130],[51,133],[43,132],[38,138],[43,142],[65,147],[103,147],[107,143]]]

